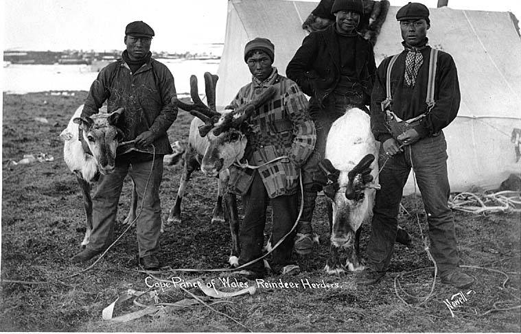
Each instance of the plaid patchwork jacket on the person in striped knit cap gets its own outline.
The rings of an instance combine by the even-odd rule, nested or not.
[[[312,153],[316,141],[314,123],[308,115],[308,102],[299,86],[287,77],[273,73],[259,82],[242,87],[231,102],[234,108],[250,102],[269,86],[277,87],[273,99],[255,110],[248,120],[251,131],[246,132],[248,143],[244,157],[250,165],[259,166],[279,156],[278,160],[257,169],[270,198],[296,193],[299,169]],[[244,195],[250,188],[254,169],[230,168],[228,191]]]

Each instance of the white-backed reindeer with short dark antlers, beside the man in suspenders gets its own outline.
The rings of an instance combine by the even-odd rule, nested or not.
[[[364,268],[359,260],[359,228],[364,222],[371,222],[376,189],[380,188],[375,158],[378,150],[370,117],[358,108],[347,110],[329,130],[323,161],[330,180],[324,194],[332,204],[331,245],[324,268],[328,274]],[[410,246],[411,238],[399,228],[396,241]]]

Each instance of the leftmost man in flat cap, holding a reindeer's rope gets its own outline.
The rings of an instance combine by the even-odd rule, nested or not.
[[[143,203],[136,228],[139,263],[148,270],[159,267],[159,187],[163,155],[172,153],[167,130],[177,117],[177,108],[171,104],[172,97],[176,97],[174,77],[164,64],[152,58],[153,36],[154,30],[143,21],[129,23],[121,59],[100,71],[86,98],[80,129],[106,101],[108,112],[124,108],[117,125],[124,132],[121,142],[130,144],[117,148],[113,173],[100,176],[92,198],[91,239],[85,250],[72,258],[75,263],[90,260],[111,244],[123,180],[130,174],[138,203]]]

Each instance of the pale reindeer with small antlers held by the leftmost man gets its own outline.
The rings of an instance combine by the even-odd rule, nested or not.
[[[86,214],[85,236],[81,243],[84,247],[89,243],[92,231],[91,182],[95,182],[100,174],[114,171],[117,145],[123,138],[123,132],[115,124],[124,109],[107,114],[104,107],[99,114],[80,117],[82,110],[83,106],[76,109],[60,138],[64,141],[63,159],[82,190]],[[78,124],[83,131],[81,138]]]

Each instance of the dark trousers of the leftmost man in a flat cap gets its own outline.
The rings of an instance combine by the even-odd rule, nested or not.
[[[153,165],[152,160],[142,161],[118,157],[115,165],[112,174],[100,176],[92,198],[93,229],[87,248],[100,251],[112,243],[119,195],[121,195],[123,180],[129,174],[136,184],[136,214],[139,213],[141,202],[143,202],[143,194],[145,196],[141,215],[136,222],[139,257],[154,254],[159,250],[159,236],[161,235],[159,187],[163,178],[163,156],[156,156]],[[129,169],[130,166],[132,166],[131,169]],[[150,169],[152,169],[152,175],[146,186]]]

